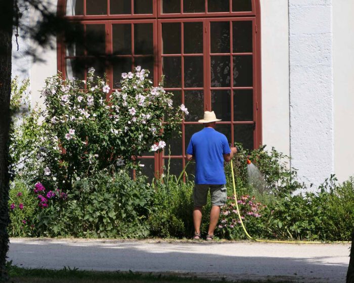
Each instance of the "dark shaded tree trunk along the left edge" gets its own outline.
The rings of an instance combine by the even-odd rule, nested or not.
[[[0,1],[0,281],[7,280],[9,249],[9,129],[14,0]]]

